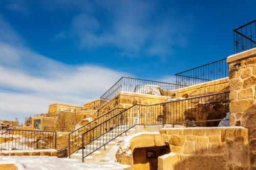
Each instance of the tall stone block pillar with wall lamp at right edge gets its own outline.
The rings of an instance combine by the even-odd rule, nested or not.
[[[234,64],[241,62],[239,70]],[[229,56],[230,126],[248,128],[251,169],[256,169],[256,48]]]

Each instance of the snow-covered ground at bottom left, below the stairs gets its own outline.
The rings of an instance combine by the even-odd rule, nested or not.
[[[130,166],[113,162],[82,163],[76,159],[54,156],[0,156],[0,164],[15,164],[18,170],[122,170]]]

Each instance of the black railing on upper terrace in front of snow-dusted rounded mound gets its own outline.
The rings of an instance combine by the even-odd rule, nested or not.
[[[100,97],[100,104],[109,101],[120,91],[170,96],[170,91],[182,87],[185,85],[122,77]]]

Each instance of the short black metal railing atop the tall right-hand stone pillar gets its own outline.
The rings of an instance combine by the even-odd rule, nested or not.
[[[256,20],[233,30],[234,54],[256,47]]]

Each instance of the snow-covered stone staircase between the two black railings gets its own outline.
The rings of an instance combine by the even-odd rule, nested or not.
[[[90,153],[94,151],[98,146],[103,144],[104,140],[109,139],[112,136],[118,136],[115,139],[111,140],[110,142],[106,143],[102,147],[100,147],[98,150],[94,151],[92,154],[84,158],[84,162],[100,162],[104,161],[103,158],[106,154],[109,153],[109,151],[113,148],[113,146],[124,136],[126,135],[133,135],[136,133],[136,130],[134,128],[129,129],[126,131],[126,133],[123,133],[124,126],[118,127],[116,129],[111,130],[109,133],[104,134],[99,139],[94,140],[91,142],[90,145],[87,145],[83,152],[84,155],[87,153]],[[118,135],[122,133],[121,135]],[[75,153],[71,154],[70,158],[82,160],[82,149],[76,151]]]

